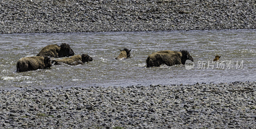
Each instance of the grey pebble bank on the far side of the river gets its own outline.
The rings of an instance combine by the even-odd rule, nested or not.
[[[1,0],[0,34],[255,29],[254,0]]]

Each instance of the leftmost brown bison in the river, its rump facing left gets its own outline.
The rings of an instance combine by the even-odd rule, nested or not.
[[[46,69],[52,66],[50,57],[23,57],[17,62],[16,72],[26,72],[37,69]]]

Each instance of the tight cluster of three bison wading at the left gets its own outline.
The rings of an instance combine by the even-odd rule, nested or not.
[[[68,65],[79,65],[92,61],[92,57],[88,56],[87,54],[76,56],[74,56],[74,54],[74,51],[67,43],[62,43],[60,46],[57,44],[47,45],[36,55],[36,57],[23,57],[19,59],[16,65],[17,72],[50,68],[53,62],[55,62],[54,65],[59,65],[60,63]],[[51,61],[51,57],[67,58]]]

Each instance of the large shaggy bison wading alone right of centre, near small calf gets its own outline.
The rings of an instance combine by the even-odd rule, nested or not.
[[[172,65],[185,65],[186,60],[193,60],[187,50],[180,50],[180,51],[171,51],[171,50],[164,50],[158,51],[148,56],[146,63],[147,67],[159,67],[162,64],[167,66]]]

